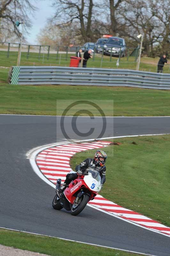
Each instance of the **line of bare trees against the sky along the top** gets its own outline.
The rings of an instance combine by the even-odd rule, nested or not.
[[[31,3],[1,0],[0,35],[2,28],[7,28],[19,36],[14,26],[19,15],[27,28],[31,26],[30,12],[36,11]],[[82,45],[111,34],[135,47],[139,43],[137,35],[143,34],[143,54],[170,54],[170,0],[51,0],[49,4],[55,13],[37,36],[40,44]]]

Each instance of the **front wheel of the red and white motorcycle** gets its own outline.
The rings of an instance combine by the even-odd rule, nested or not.
[[[71,215],[78,215],[86,206],[86,204],[89,202],[89,196],[87,194],[83,194],[78,202],[74,202],[74,204],[71,207]]]

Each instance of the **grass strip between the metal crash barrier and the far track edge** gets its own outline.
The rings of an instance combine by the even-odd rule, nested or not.
[[[66,100],[97,100],[105,116],[170,116],[170,91],[100,86],[97,92],[96,86],[10,85],[7,76],[8,69],[1,68],[1,114],[61,115],[68,106]],[[57,100],[61,101],[56,112]],[[96,109],[92,113],[100,115]]]

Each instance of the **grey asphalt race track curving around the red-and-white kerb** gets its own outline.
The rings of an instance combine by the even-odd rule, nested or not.
[[[80,139],[73,134],[71,118],[65,119],[67,130],[72,134],[72,139]],[[96,129],[89,139],[100,133],[101,119],[95,118]],[[89,117],[78,117],[78,129],[81,132],[89,131],[89,122]],[[114,127],[113,118],[106,118],[106,122],[103,137],[170,133],[170,117],[115,117]],[[26,153],[34,147],[64,142],[64,139],[60,117],[56,120],[55,116],[0,115],[0,227],[169,256],[170,237],[90,207],[86,207],[78,216],[52,208],[54,189],[35,174]]]

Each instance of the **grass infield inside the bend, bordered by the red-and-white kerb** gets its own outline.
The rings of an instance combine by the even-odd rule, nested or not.
[[[170,227],[170,135],[115,139],[120,146],[103,148],[108,155],[101,195]],[[95,151],[95,150],[94,150]],[[72,169],[94,152],[81,152]]]

